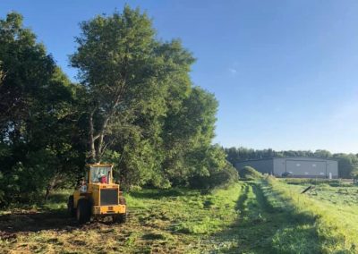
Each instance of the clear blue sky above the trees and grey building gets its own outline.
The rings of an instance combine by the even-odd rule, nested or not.
[[[195,85],[219,101],[225,147],[358,153],[358,1],[128,1],[158,38],[181,38],[198,59]],[[72,79],[78,23],[124,1],[2,0]]]

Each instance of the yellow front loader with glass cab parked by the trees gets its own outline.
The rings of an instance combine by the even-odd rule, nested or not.
[[[113,165],[89,165],[86,178],[69,197],[67,207],[80,224],[111,216],[124,223],[127,209],[119,184],[113,182]]]

